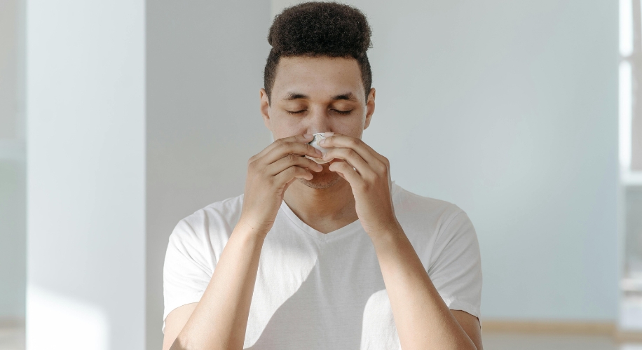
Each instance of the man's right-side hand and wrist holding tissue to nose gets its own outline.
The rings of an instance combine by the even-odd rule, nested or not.
[[[360,139],[332,134],[320,146],[331,148],[323,157],[334,158],[329,169],[350,183],[357,216],[364,230],[374,237],[399,228],[390,194],[390,162]]]

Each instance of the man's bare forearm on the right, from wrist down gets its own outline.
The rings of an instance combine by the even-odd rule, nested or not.
[[[403,349],[476,349],[401,227],[372,238]]]

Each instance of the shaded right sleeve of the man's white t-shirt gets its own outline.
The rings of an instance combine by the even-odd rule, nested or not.
[[[439,231],[432,256],[428,275],[449,309],[479,318],[482,259],[477,234],[461,209]]]

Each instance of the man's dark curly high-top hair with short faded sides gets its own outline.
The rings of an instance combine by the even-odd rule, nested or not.
[[[281,57],[353,57],[361,69],[366,98],[372,72],[366,51],[372,47],[366,16],[353,6],[336,2],[306,2],[283,10],[272,22],[272,45],[264,71],[268,103]]]

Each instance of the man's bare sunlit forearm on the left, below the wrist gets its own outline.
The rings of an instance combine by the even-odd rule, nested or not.
[[[264,235],[237,225],[171,350],[243,349]]]

